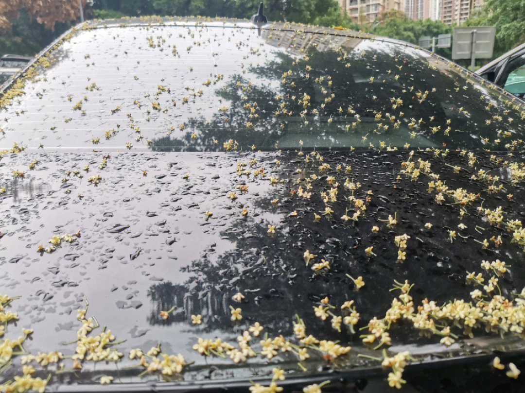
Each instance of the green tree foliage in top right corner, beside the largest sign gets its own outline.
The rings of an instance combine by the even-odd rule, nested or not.
[[[496,26],[495,57],[525,41],[525,0],[487,0],[466,26]]]

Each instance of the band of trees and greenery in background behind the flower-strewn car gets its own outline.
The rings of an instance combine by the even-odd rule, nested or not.
[[[122,16],[222,16],[249,18],[260,0],[82,0],[88,18]],[[419,37],[451,33],[452,26],[386,12],[372,25],[352,23],[335,0],[266,0],[269,20],[342,26],[417,44]],[[0,55],[33,56],[76,24],[78,0],[0,0]],[[495,25],[494,57],[525,41],[525,0],[487,0],[465,25]],[[450,57],[450,49],[438,49]],[[488,60],[485,60],[488,61]]]

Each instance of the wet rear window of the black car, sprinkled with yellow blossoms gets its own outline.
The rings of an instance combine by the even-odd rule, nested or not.
[[[72,33],[0,103],[3,147],[509,150],[525,134],[519,100],[422,49],[248,24]]]

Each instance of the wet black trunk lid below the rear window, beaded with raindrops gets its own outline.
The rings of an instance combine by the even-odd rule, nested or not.
[[[522,246],[512,242],[505,225],[491,223],[484,210],[501,206],[505,222],[521,219],[525,193],[513,163],[522,157],[469,154],[5,153],[0,161],[0,285],[5,294],[20,296],[9,304],[19,321],[8,325],[6,337],[31,328],[27,352],[72,355],[82,326],[77,312],[87,307],[86,317],[100,325],[92,334],[102,326],[111,330],[125,367],[119,371],[121,366],[112,362],[85,361],[75,374],[84,382],[100,374],[148,380],[151,376],[138,377],[140,366],[128,358],[129,350],[145,352],[159,344],[188,364],[179,380],[247,380],[269,373],[276,363],[296,375],[370,367],[373,361],[359,355],[381,356],[381,349],[364,345],[357,328],[384,317],[398,295],[391,291],[394,280],[414,284],[410,293],[416,307],[425,299],[469,302],[475,288],[465,277],[483,272],[482,260],[511,265],[499,278],[506,298],[516,297],[525,285]],[[411,162],[422,168],[419,175],[406,173]],[[473,199],[460,203],[450,191],[439,201],[429,185],[437,179],[451,191],[465,189]],[[356,219],[344,219],[358,209],[356,199],[365,209]],[[461,209],[468,219],[461,220]],[[397,223],[389,225],[388,216]],[[395,237],[404,234],[409,236],[406,259],[398,263]],[[53,246],[56,236],[61,241]],[[310,264],[304,259],[307,250],[316,255]],[[321,260],[329,268],[313,270]],[[359,289],[358,277],[364,281]],[[238,292],[244,295],[240,302],[232,299]],[[356,334],[344,325],[338,332],[331,317],[316,316],[313,307],[325,298],[333,316],[344,316],[341,305],[354,301],[360,313]],[[230,306],[241,309],[241,320],[232,321]],[[171,313],[164,319],[161,311]],[[192,315],[198,314],[202,324],[192,324]],[[236,345],[256,322],[264,330],[252,335],[254,348],[265,334],[293,341],[298,318],[307,334],[352,350],[337,359],[312,350],[298,366],[289,352],[269,363],[256,356],[235,364],[194,349],[199,338]],[[481,329],[474,339],[453,329],[461,339],[446,347],[440,336],[422,336],[412,323],[400,321],[390,328],[388,349],[408,349],[428,360],[440,353],[467,356],[522,346],[511,334],[501,342]],[[70,381],[71,361],[64,363],[68,373],[53,371],[56,383]],[[20,363],[15,364],[8,373],[19,370]]]

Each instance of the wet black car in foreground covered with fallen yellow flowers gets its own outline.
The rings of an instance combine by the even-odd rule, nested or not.
[[[521,391],[525,106],[474,73],[89,22],[0,119],[2,391]]]

